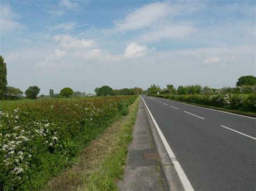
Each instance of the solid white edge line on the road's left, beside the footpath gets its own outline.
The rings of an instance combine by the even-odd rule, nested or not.
[[[165,146],[165,149],[166,149],[169,157],[170,158],[176,158],[174,153],[172,152],[172,149],[171,149],[170,145],[167,143],[167,140],[165,139],[163,133],[161,132],[161,130],[160,130],[156,120],[154,119],[153,115],[151,114],[149,108],[147,107],[147,104],[144,101],[143,97],[142,97],[142,100],[143,100],[144,104],[146,105],[147,111],[149,111],[150,117],[151,117],[154,125],[156,126],[157,132],[158,132],[158,134],[159,134],[159,136],[160,136],[160,138],[161,138],[161,140],[162,140],[162,142],[163,142],[163,144]],[[172,163],[173,163],[174,168],[176,169],[176,172],[177,172],[177,174],[179,176],[179,179],[180,179],[180,181],[181,181],[181,183],[183,185],[183,188],[185,190],[194,190],[192,185],[191,185],[191,183],[190,183],[190,181],[188,180],[185,172],[183,171],[182,167],[180,166],[179,162],[176,160],[176,161],[172,161]]]

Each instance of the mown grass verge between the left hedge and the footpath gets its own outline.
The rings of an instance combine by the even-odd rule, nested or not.
[[[53,178],[44,190],[117,190],[116,180],[121,179],[124,173],[138,104],[139,98],[130,105],[128,115],[85,148],[79,164]]]

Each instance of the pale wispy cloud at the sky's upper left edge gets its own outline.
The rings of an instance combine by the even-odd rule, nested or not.
[[[9,5],[0,4],[0,32],[12,32],[23,26],[15,21],[19,16],[12,11]]]

